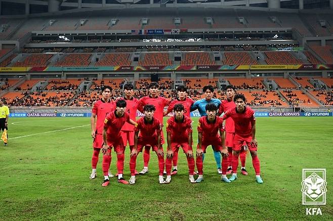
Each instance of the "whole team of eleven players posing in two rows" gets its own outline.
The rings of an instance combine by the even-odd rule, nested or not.
[[[227,99],[222,102],[213,98],[214,88],[211,85],[203,87],[205,98],[193,101],[187,97],[187,88],[177,88],[178,98],[168,100],[158,96],[158,84],[152,82],[149,85],[149,96],[140,100],[133,97],[132,84],[124,85],[124,97],[115,102],[110,99],[111,87],[102,88],[102,98],[95,102],[92,109],[91,130],[94,138],[94,151],[92,156],[92,174],[90,179],[97,176],[96,165],[100,150],[103,152],[102,169],[104,182],[102,186],[109,185],[111,149],[117,154],[117,182],[122,184],[135,184],[136,175],[148,173],[150,148],[158,157],[160,184],[170,183],[171,175],[177,174],[178,150],[182,147],[187,157],[189,168],[189,180],[191,183],[200,183],[203,180],[203,159],[206,147],[212,145],[214,157],[217,163],[218,173],[222,174],[221,180],[230,183],[237,179],[238,157],[241,159],[241,172],[247,175],[245,170],[246,149],[252,156],[253,166],[256,172],[256,180],[263,183],[260,177],[260,161],[257,156],[255,113],[250,107],[245,107],[245,97],[242,94],[235,95],[232,85],[226,87]],[[164,111],[164,107],[168,109]],[[194,155],[192,151],[192,120],[190,112],[198,109],[201,118],[198,122],[198,144],[196,149],[196,167],[194,172]],[[139,110],[145,115],[136,122],[136,113]],[[175,116],[169,118],[166,123],[168,149],[164,163],[162,144],[164,137],[162,132],[163,116],[174,111]],[[223,117],[218,117],[223,114]],[[224,127],[223,121],[226,120]],[[220,134],[219,134],[220,132]],[[225,133],[226,132],[226,133]],[[130,171],[131,178],[128,181],[123,178],[124,149],[129,143],[131,150]],[[143,153],[144,168],[136,171],[136,159],[139,152]],[[221,160],[221,155],[223,160]],[[171,172],[172,164],[174,165]],[[164,171],[165,165],[165,171]],[[163,178],[166,172],[166,179]],[[232,174],[228,179],[227,174]],[[194,175],[198,175],[194,179]]]

